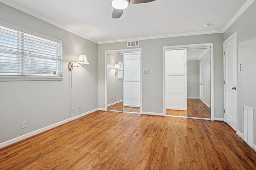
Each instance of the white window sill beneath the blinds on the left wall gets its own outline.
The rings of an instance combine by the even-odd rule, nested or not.
[[[16,81],[62,81],[63,77],[48,76],[0,76],[0,82]]]

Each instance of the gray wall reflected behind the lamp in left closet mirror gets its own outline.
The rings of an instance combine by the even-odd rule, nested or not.
[[[120,54],[108,54],[108,78],[107,78],[107,104],[112,104],[123,100],[123,81],[118,80],[118,73],[115,75],[113,69],[115,64],[119,61],[123,61],[123,56]],[[113,99],[112,99],[113,98]]]

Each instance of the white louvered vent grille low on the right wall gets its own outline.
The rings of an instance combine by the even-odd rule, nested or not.
[[[253,108],[243,105],[243,140],[250,147],[253,147],[253,112]]]

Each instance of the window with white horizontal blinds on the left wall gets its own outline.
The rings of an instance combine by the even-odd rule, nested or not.
[[[0,25],[0,77],[62,77],[62,41],[11,27]]]

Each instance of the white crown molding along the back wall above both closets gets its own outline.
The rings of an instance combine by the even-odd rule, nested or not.
[[[167,35],[155,35],[148,37],[138,37],[138,38],[129,38],[129,39],[116,39],[116,40],[108,40],[108,41],[99,41],[98,44],[106,44],[106,43],[120,43],[124,41],[136,41],[140,40],[148,40],[148,39],[161,39],[161,38],[171,38],[171,37],[184,37],[191,35],[204,35],[204,34],[214,34],[214,33],[223,33],[222,29],[212,30],[212,31],[198,31],[198,32],[190,32],[190,33],[176,33],[176,34],[167,34]]]

